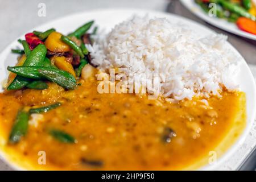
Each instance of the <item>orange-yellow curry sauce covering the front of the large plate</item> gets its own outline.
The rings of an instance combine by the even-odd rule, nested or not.
[[[210,151],[221,156],[246,122],[242,92],[170,103],[135,94],[100,94],[94,79],[80,80],[68,91],[48,85],[46,90],[0,95],[1,148],[26,169],[195,169],[208,163]],[[60,107],[30,116],[28,133],[19,143],[8,143],[19,109],[57,101]],[[65,131],[76,142],[61,143],[49,129]]]

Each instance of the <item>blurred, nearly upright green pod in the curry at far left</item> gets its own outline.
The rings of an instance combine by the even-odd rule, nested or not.
[[[9,143],[18,143],[21,137],[27,134],[29,114],[20,110],[16,116],[13,129],[9,137]]]

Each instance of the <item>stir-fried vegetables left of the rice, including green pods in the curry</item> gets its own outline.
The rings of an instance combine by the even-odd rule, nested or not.
[[[82,68],[88,63],[86,59],[90,57],[85,43],[91,43],[90,34],[86,32],[92,24],[93,21],[85,23],[68,36],[51,28],[44,32],[33,31],[25,35],[25,40],[19,39],[23,49],[11,50],[21,55],[15,67],[7,67],[10,75],[6,89],[48,89],[46,81],[55,82],[65,89],[74,89],[77,85],[75,77],[81,76]],[[92,34],[96,34],[96,31],[97,27]],[[60,102],[56,102],[48,106],[32,107],[29,111],[20,110],[10,133],[9,143],[17,143],[26,135],[30,114],[46,113],[60,105]],[[64,131],[52,129],[49,134],[63,143],[76,142],[75,138]]]

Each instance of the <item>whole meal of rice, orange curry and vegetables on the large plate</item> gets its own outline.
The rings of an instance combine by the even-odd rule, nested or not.
[[[147,16],[56,31],[26,34],[7,67],[0,148],[19,167],[197,169],[243,132],[242,58],[226,36]]]

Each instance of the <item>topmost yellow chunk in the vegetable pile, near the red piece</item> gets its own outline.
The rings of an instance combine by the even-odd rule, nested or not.
[[[46,39],[46,48],[52,52],[68,52],[71,50],[67,44],[60,40],[61,34],[59,32],[52,32]]]

